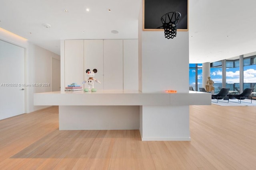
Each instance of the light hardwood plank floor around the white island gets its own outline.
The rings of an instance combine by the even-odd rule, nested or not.
[[[256,106],[190,106],[191,141],[59,131],[58,107],[0,121],[0,170],[256,169]]]

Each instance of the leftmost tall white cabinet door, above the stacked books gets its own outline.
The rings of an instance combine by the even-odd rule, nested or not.
[[[65,87],[84,81],[84,40],[65,40]]]

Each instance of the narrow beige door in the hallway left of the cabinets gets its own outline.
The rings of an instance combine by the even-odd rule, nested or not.
[[[60,91],[60,60],[52,58],[52,92]]]

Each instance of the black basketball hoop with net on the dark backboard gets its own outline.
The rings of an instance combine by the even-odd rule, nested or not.
[[[173,39],[176,37],[177,26],[180,20],[181,14],[179,12],[168,12],[161,17],[163,25],[158,28],[164,29],[164,37],[167,39]]]

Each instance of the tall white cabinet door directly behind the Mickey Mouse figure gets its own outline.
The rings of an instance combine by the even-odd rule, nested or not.
[[[84,40],[84,80],[88,80],[85,71],[87,69],[93,70],[94,68],[97,69],[94,78],[101,82],[101,84],[94,82],[94,88],[103,90],[103,40]]]

